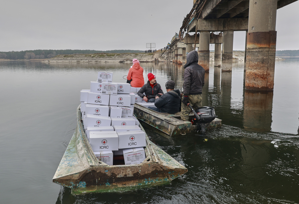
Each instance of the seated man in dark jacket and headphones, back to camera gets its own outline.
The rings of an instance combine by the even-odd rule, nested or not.
[[[179,112],[181,106],[181,93],[179,89],[174,89],[175,83],[172,80],[168,80],[165,84],[167,93],[156,96],[155,106],[149,106],[149,109],[160,113],[174,114]]]

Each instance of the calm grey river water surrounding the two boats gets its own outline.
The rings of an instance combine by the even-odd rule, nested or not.
[[[172,138],[146,129],[152,142],[188,168],[171,183],[125,193],[73,196],[52,183],[76,128],[80,90],[99,70],[126,82],[131,64],[1,61],[0,203],[299,203],[299,59],[277,61],[274,91],[244,91],[244,65],[211,64],[203,105],[223,126]],[[165,92],[181,88],[184,68],[141,63]]]

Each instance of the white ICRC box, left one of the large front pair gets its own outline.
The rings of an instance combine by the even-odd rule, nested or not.
[[[115,131],[89,132],[92,151],[118,150],[118,135]]]

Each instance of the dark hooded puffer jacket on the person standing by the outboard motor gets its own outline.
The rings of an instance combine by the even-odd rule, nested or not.
[[[202,94],[205,84],[205,69],[198,63],[198,53],[193,50],[187,55],[184,65],[184,96]]]

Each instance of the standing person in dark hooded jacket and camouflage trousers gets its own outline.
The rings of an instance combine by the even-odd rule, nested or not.
[[[189,104],[194,109],[202,107],[202,86],[205,84],[205,69],[198,63],[198,53],[193,50],[187,55],[184,65],[184,92],[181,105],[181,120],[188,121],[190,114]]]

